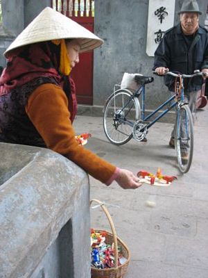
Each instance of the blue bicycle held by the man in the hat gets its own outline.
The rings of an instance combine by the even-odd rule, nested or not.
[[[178,74],[166,72],[175,77],[175,95],[164,101],[155,111],[146,114],[145,110],[145,85],[154,81],[153,76],[135,74],[135,81],[140,85],[138,90],[116,90],[108,97],[103,115],[103,127],[107,139],[114,145],[123,145],[134,138],[144,140],[150,126],[153,126],[168,111],[177,106],[175,122],[175,149],[177,163],[182,173],[189,171],[193,158],[193,117],[187,102],[184,101],[184,79],[206,74],[196,71],[194,74]],[[205,82],[205,79],[204,79]],[[141,106],[139,96],[141,95]],[[175,99],[175,101],[174,101]],[[164,111],[160,112],[162,108]],[[157,112],[159,115],[150,120]]]

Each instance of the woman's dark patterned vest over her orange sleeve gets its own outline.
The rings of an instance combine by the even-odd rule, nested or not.
[[[53,78],[40,77],[0,97],[0,142],[46,147],[25,111],[28,97],[44,83],[57,85]]]

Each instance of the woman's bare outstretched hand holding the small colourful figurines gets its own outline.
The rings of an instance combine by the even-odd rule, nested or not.
[[[119,170],[118,177],[116,177],[115,181],[119,183],[119,186],[123,189],[136,189],[142,185],[142,183],[139,183],[138,177],[125,169]]]

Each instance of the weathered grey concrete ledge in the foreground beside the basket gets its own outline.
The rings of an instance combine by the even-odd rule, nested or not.
[[[89,278],[87,174],[49,149],[0,152],[0,277]]]

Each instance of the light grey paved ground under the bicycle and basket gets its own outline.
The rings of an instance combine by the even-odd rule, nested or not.
[[[131,140],[116,147],[107,141],[101,117],[78,116],[77,133],[90,132],[87,148],[132,172],[156,172],[157,167],[177,181],[166,188],[144,185],[123,190],[90,177],[91,198],[108,206],[117,235],[131,252],[126,278],[208,277],[208,107],[198,111],[193,164],[187,174],[177,170],[175,150],[168,147],[173,124],[158,123],[148,142]],[[146,201],[155,202],[155,207]],[[101,208],[92,210],[92,227],[110,230]]]

